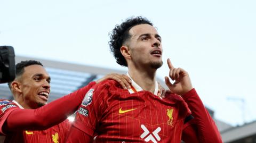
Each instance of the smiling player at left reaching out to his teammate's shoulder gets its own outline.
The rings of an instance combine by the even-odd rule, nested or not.
[[[108,78],[129,88],[130,79],[114,73],[97,82]],[[16,78],[9,83],[14,100],[0,100],[0,134],[5,135],[4,142],[64,142],[70,128],[65,119],[75,112],[96,82],[46,105],[50,81],[49,74],[38,61],[22,61],[16,65]]]

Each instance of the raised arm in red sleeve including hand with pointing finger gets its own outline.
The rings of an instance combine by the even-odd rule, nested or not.
[[[170,72],[169,77],[175,80],[171,83],[168,77],[165,77],[165,83],[170,91],[174,94],[181,95],[192,115],[195,117],[185,124],[182,139],[186,143],[190,142],[222,142],[220,133],[212,120],[211,116],[205,109],[201,99],[192,86],[188,73],[181,68],[174,68],[170,59],[167,60]]]

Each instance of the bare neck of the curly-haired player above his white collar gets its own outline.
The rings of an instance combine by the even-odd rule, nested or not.
[[[145,70],[145,68],[129,66],[128,73],[133,81],[135,81],[143,90],[150,91],[154,94],[156,69]]]

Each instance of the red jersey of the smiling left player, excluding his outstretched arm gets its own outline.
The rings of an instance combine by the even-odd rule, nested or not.
[[[17,104],[9,100],[0,100],[0,133],[4,134],[2,131],[3,123],[5,122],[7,116],[11,111],[19,108]],[[22,120],[22,119],[20,119]],[[10,132],[5,135],[4,142],[21,142],[21,143],[61,143],[65,141],[65,137],[70,128],[70,122],[65,120],[58,125],[43,130],[43,131],[17,131]]]

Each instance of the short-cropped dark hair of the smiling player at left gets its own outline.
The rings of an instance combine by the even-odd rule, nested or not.
[[[41,62],[35,61],[35,60],[21,61],[20,63],[17,63],[15,65],[15,70],[16,70],[16,72],[15,72],[15,74],[16,74],[15,79],[18,78],[20,75],[22,75],[25,72],[24,68],[26,68],[29,65],[35,65],[35,64],[43,66],[43,64]],[[8,86],[9,86],[10,89],[11,89],[11,83],[12,83],[12,81],[8,83]]]

